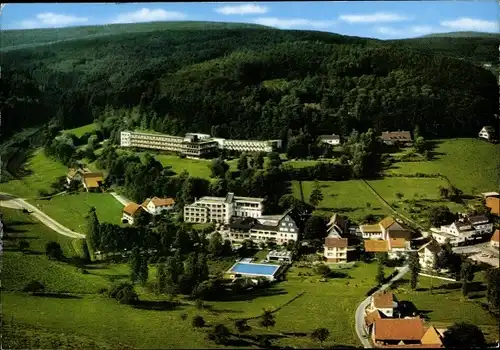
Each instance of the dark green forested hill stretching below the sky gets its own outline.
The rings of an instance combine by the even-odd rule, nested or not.
[[[3,132],[53,117],[79,126],[105,107],[117,130],[140,124],[236,138],[416,125],[429,136],[465,136],[492,122],[491,72],[413,46],[312,31],[178,28],[12,50],[2,56]],[[119,120],[136,106],[141,115]]]

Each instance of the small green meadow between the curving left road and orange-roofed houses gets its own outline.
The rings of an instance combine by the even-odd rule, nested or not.
[[[79,192],[30,202],[54,220],[79,233],[85,233],[86,217],[91,207],[96,208],[100,222],[121,223],[123,205],[109,193]]]

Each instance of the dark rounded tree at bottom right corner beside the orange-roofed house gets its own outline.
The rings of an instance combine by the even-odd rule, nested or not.
[[[478,326],[459,322],[453,324],[444,332],[443,345],[446,348],[477,349],[485,348],[486,340]]]

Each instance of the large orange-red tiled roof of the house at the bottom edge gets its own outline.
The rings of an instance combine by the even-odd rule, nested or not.
[[[381,318],[374,323],[375,340],[420,340],[425,334],[421,318]]]

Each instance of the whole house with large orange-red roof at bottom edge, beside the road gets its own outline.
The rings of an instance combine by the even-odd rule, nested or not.
[[[443,338],[421,318],[378,318],[373,322],[372,341],[376,348],[441,348]]]

